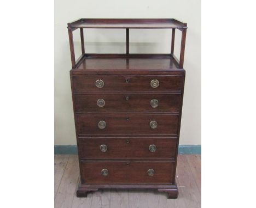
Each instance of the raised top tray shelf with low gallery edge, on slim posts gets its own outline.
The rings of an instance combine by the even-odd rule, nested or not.
[[[79,19],[68,23],[76,28],[187,28],[187,23],[176,19]]]

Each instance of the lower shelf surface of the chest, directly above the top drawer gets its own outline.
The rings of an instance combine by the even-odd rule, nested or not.
[[[184,71],[170,54],[86,54],[71,71]]]

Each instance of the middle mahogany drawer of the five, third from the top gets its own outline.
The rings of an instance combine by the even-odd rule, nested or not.
[[[178,114],[77,114],[75,122],[79,136],[177,135],[178,131]]]

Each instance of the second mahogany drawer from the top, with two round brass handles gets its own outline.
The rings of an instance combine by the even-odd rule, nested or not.
[[[178,113],[181,94],[75,94],[76,113],[170,112]]]

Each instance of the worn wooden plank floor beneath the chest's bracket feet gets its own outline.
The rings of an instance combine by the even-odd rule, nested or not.
[[[104,190],[89,193],[87,198],[75,197],[79,181],[77,155],[54,157],[55,208],[165,208],[201,207],[201,155],[179,155],[176,181],[178,199],[167,199],[166,193],[156,190]]]

